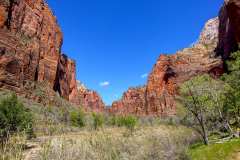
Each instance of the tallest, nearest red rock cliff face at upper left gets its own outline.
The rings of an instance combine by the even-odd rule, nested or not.
[[[53,88],[62,33],[51,10],[42,0],[3,0],[1,13],[2,84],[21,88],[36,80]]]

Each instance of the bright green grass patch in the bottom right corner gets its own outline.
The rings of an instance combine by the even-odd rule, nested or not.
[[[240,140],[235,139],[225,143],[193,147],[189,150],[189,156],[192,160],[227,160],[234,156],[239,148]]]

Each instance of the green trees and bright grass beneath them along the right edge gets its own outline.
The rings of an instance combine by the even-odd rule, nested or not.
[[[180,87],[178,99],[187,113],[183,123],[201,135],[203,144],[209,145],[192,147],[192,159],[230,159],[233,152],[239,152],[239,51],[232,54],[227,68],[228,72],[220,78],[197,76]]]

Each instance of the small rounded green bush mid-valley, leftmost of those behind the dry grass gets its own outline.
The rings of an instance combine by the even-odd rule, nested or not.
[[[80,109],[77,111],[72,111],[70,113],[70,121],[74,127],[84,127],[85,123],[85,113]]]

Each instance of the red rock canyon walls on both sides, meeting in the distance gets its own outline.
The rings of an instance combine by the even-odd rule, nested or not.
[[[100,95],[76,79],[75,61],[62,53],[63,35],[43,0],[0,0],[0,88],[24,95],[29,83],[46,82],[49,93],[87,111],[171,116],[178,87],[196,75],[219,77],[240,43],[240,1],[225,0],[191,47],[161,54],[143,87],[130,88],[106,108]],[[80,76],[81,77],[81,76]]]

